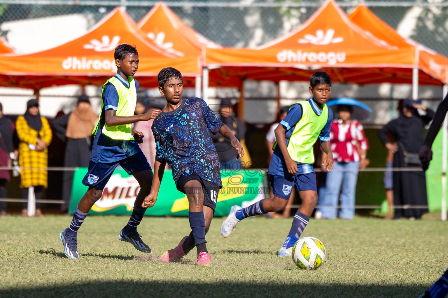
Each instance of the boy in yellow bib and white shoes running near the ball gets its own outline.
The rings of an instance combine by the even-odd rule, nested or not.
[[[269,164],[269,183],[274,198],[260,200],[246,208],[233,206],[221,226],[226,238],[242,219],[271,211],[283,210],[295,186],[302,205],[294,216],[291,230],[279,250],[279,256],[291,256],[294,243],[300,238],[317,203],[316,174],[314,173],[313,145],[320,139],[320,146],[327,154],[323,160],[324,171],[333,168],[330,148],[332,110],[325,103],[331,93],[332,81],[326,72],[317,71],[310,79],[313,96],[291,106],[286,117],[275,130],[277,143]]]

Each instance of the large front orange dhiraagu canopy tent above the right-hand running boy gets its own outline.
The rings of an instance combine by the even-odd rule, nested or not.
[[[354,84],[411,83],[413,68],[420,84],[441,85],[445,77],[418,65],[418,51],[366,33],[327,0],[305,23],[254,50],[207,49],[206,66],[215,86],[241,87],[250,80],[309,80],[327,71],[333,82]],[[415,77],[414,77],[415,79]]]

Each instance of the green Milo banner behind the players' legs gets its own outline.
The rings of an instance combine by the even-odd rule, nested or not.
[[[87,186],[81,183],[87,168],[79,168],[73,177],[72,200],[70,213],[76,209]],[[224,216],[233,205],[249,206],[256,201],[269,197],[266,184],[266,172],[259,169],[221,172],[223,188],[220,189],[215,215]],[[116,169],[104,188],[103,196],[95,203],[90,214],[131,214],[135,197],[140,187],[132,175],[124,170]],[[188,200],[184,193],[177,190],[172,172],[165,171],[159,197],[154,207],[148,208],[145,215],[188,216]]]

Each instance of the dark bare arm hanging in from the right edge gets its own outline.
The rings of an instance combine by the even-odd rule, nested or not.
[[[432,159],[432,143],[434,143],[435,137],[440,130],[440,126],[444,122],[445,114],[448,112],[448,95],[444,98],[444,100],[440,103],[439,107],[435,111],[434,120],[429,127],[428,134],[426,134],[425,142],[423,143],[420,152],[418,152],[418,156],[420,157],[420,161],[422,162],[423,171],[426,171],[429,167],[429,163]]]

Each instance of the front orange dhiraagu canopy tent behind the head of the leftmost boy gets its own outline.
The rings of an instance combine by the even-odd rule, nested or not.
[[[124,10],[115,8],[85,35],[64,45],[2,56],[0,86],[39,90],[65,84],[102,85],[116,72],[114,50],[121,43],[137,47],[140,63],[135,77],[143,87],[157,86],[156,76],[164,67],[177,67],[186,77],[201,74],[199,56],[169,53],[146,38]]]

